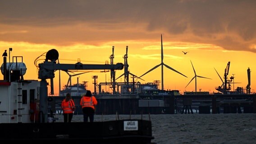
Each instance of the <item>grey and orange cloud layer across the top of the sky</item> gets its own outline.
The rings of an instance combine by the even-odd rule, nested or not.
[[[43,42],[72,44],[168,33],[174,40],[256,52],[250,49],[256,45],[255,5],[255,0],[1,0],[1,29],[29,32],[0,32],[0,40],[37,43],[33,37],[40,33]]]

